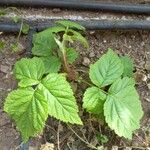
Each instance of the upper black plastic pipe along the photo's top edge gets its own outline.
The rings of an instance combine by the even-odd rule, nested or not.
[[[52,7],[75,10],[110,11],[119,13],[150,14],[149,4],[114,4],[79,0],[0,0],[4,6]]]

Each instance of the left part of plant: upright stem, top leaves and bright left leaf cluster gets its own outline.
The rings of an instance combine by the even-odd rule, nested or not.
[[[32,53],[38,57],[22,58],[13,69],[18,88],[8,94],[4,110],[15,121],[24,142],[42,132],[48,116],[82,125],[71,86],[65,74],[58,71],[62,59],[64,70],[69,73],[68,64],[77,57],[76,51],[68,47],[68,41],[88,44],[74,30],[83,31],[82,26],[70,21],[57,24],[34,35]]]

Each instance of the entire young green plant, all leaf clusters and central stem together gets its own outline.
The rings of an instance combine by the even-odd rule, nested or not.
[[[88,48],[82,35],[84,31],[77,23],[58,21],[54,27],[34,35],[33,58],[16,62],[13,74],[19,81],[18,88],[8,94],[4,110],[16,122],[24,142],[42,132],[48,116],[82,125],[65,75],[69,80],[77,78],[71,64],[78,53],[72,45],[79,41]],[[61,65],[65,74],[58,73]],[[83,107],[96,116],[103,116],[119,136],[131,139],[143,115],[132,78],[131,59],[119,58],[109,49],[90,66],[89,75],[93,86],[84,94]]]

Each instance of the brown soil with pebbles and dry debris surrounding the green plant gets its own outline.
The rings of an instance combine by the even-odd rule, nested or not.
[[[140,0],[139,0],[140,1]],[[138,2],[139,2],[138,1]],[[117,0],[116,0],[117,2]],[[135,2],[135,0],[133,0]],[[136,1],[137,2],[137,1]],[[141,2],[141,1],[140,1]],[[49,12],[47,9],[42,9],[37,12],[37,9],[32,10],[35,14]],[[28,10],[23,9],[25,12]],[[31,11],[31,12],[32,12]],[[50,10],[50,14],[55,14],[53,10]],[[56,11],[56,10],[55,10]],[[33,14],[31,13],[30,14]],[[71,11],[61,11],[58,14],[60,16],[68,16]],[[88,12],[89,13],[89,12]],[[72,15],[75,11],[72,11]],[[48,15],[48,14],[47,14]],[[86,12],[76,13],[77,16],[86,16]],[[97,13],[91,13],[90,17],[96,16]],[[114,19],[115,17],[122,17],[121,15],[103,14],[106,19],[109,16]],[[88,15],[87,15],[88,17]],[[126,16],[125,16],[126,17]],[[147,19],[148,16],[127,16],[129,19]],[[115,18],[116,19],[116,18]],[[40,20],[41,21],[41,20]],[[39,21],[39,22],[40,22]],[[124,138],[120,138],[111,131],[107,125],[103,125],[103,122],[98,122],[93,119],[82,108],[82,95],[87,87],[86,84],[72,83],[75,92],[77,93],[76,99],[80,108],[80,116],[84,121],[84,126],[70,126],[59,122],[53,118],[49,118],[43,135],[31,140],[30,149],[38,150],[42,146],[50,144],[51,147],[57,149],[58,142],[58,130],[59,130],[59,145],[61,150],[88,150],[90,147],[85,144],[74,132],[76,132],[84,140],[87,140],[94,146],[101,145],[96,140],[96,133],[104,134],[108,137],[109,141],[103,146],[108,149],[148,149],[150,148],[150,70],[147,68],[147,64],[150,62],[150,31],[90,31],[85,35],[89,41],[90,48],[88,50],[81,47],[78,43],[80,57],[75,63],[76,70],[82,77],[87,78],[85,72],[88,71],[89,65],[95,62],[108,48],[114,49],[119,55],[128,54],[133,58],[135,64],[135,79],[137,81],[136,88],[140,95],[142,102],[144,116],[141,121],[141,128],[133,135],[133,140],[128,141]],[[0,51],[0,149],[1,150],[15,150],[18,149],[21,143],[20,134],[18,133],[15,124],[9,119],[7,114],[3,112],[3,102],[7,94],[16,88],[16,80],[12,75],[12,68],[15,62],[21,57],[25,57],[25,51],[27,51],[27,37],[22,36],[20,38],[20,44],[22,45],[22,51],[18,53],[12,53],[11,44],[15,41],[17,35],[2,34],[0,35],[0,41],[4,41],[6,46]],[[87,78],[88,80],[88,78]],[[72,129],[74,131],[72,131]],[[116,146],[116,147],[115,147]],[[101,147],[102,148],[102,147]],[[50,148],[49,148],[50,149]]]

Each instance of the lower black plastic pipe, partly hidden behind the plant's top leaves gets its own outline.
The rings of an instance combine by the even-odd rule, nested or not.
[[[76,21],[83,25],[87,30],[150,30],[150,21],[145,20],[130,20],[130,21],[104,21],[104,20],[86,20],[86,21]],[[51,23],[42,23],[38,25],[31,25],[30,29],[34,31],[42,31],[48,27],[54,25],[54,20]],[[0,23],[0,32],[19,32],[20,24],[14,23]]]

